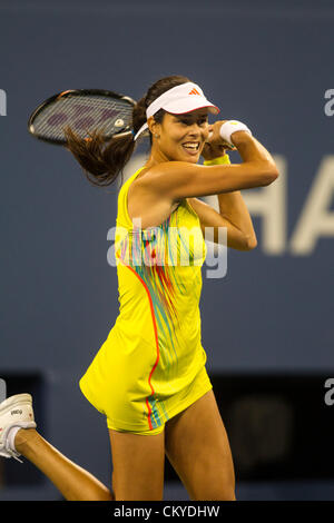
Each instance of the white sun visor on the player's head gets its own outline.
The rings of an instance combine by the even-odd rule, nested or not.
[[[160,109],[171,112],[173,115],[183,115],[185,112],[195,111],[196,109],[202,109],[203,107],[208,107],[208,110],[214,115],[219,112],[218,107],[206,99],[200,87],[188,81],[180,86],[173,87],[153,101],[146,109],[146,118],[148,120],[149,117],[154,116]],[[148,129],[147,122],[140,127],[134,140],[137,140],[138,136],[146,129]]]

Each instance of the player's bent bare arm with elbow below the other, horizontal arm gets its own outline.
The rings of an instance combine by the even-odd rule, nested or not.
[[[220,214],[198,198],[187,198],[188,204],[199,218],[204,238],[215,244],[223,244],[225,236],[219,235],[219,227],[226,227],[227,247],[237,250],[254,249],[257,245],[256,235],[240,193],[218,195],[218,200]],[[245,213],[246,216],[242,217],[240,214]],[[205,230],[206,227],[210,227],[212,230]]]

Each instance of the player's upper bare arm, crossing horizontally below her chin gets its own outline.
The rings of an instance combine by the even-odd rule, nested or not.
[[[214,125],[219,132],[218,122]],[[219,135],[217,135],[219,136]],[[218,195],[233,190],[263,187],[278,177],[272,155],[248,132],[239,130],[230,137],[243,162],[200,166],[186,161],[167,161],[149,169],[143,177],[143,188],[171,201],[198,196]]]

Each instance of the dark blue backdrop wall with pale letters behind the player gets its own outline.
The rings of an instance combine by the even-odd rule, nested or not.
[[[105,420],[78,381],[118,314],[116,269],[107,263],[118,187],[90,186],[65,149],[28,135],[28,117],[65,89],[139,99],[158,78],[180,73],[220,107],[219,119],[247,122],[282,176],[275,189],[244,193],[258,247],[229,250],[225,278],[207,278],[204,266],[207,369],[331,376],[334,117],[325,92],[334,87],[333,21],[326,1],[0,3],[0,376],[41,375],[46,437],[106,483]],[[316,206],[325,233],[307,246],[312,227],[322,226]],[[19,473],[21,465],[10,466]],[[187,499],[181,486],[166,489],[169,499]],[[240,499],[333,493],[331,483],[238,489]],[[58,497],[49,483],[0,490],[2,500]]]

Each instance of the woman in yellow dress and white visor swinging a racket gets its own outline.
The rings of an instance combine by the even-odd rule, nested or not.
[[[67,131],[68,149],[99,186],[117,179],[138,138],[150,137],[148,160],[118,196],[119,315],[80,379],[107,420],[112,489],[37,432],[29,394],[0,404],[0,454],[26,456],[67,500],[163,500],[165,453],[191,500],[236,499],[200,339],[205,228],[218,241],[226,227],[228,247],[253,249],[256,235],[240,190],[267,186],[278,172],[247,126],[208,124],[208,114],[218,110],[198,85],[174,76],[158,80],[135,106],[131,134],[105,144],[98,132],[85,140]],[[233,148],[238,165],[229,164],[226,150]],[[200,156],[205,165],[198,165]],[[218,195],[219,213],[198,199],[207,195]],[[194,230],[200,234],[189,241]]]

